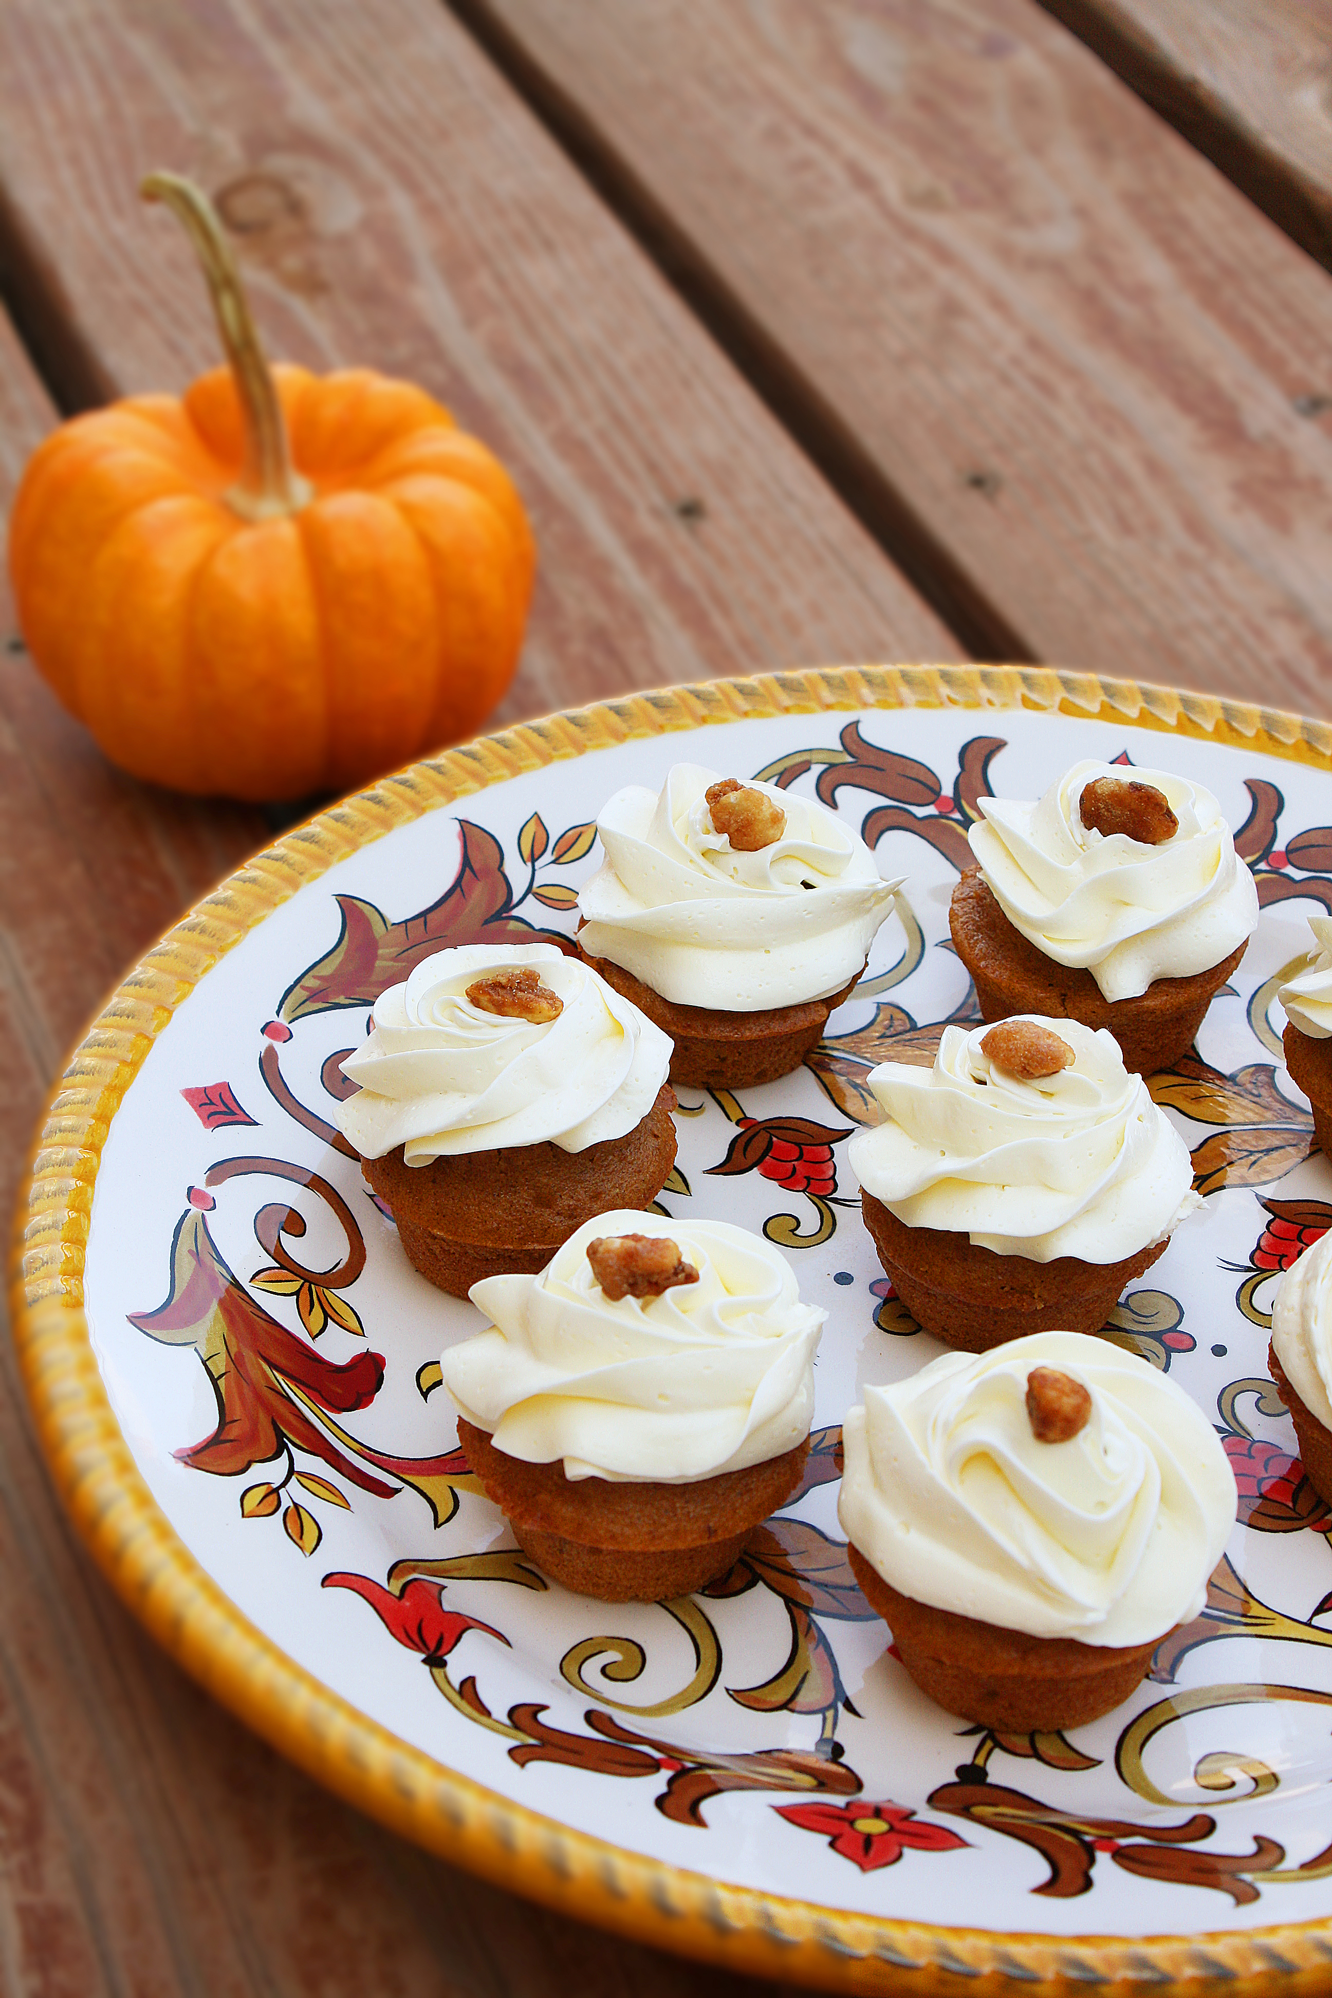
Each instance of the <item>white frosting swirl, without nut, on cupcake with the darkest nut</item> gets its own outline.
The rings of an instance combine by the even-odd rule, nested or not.
[[[1178,831],[1148,847],[1082,825],[1078,799],[1094,777],[1164,791]],[[1090,971],[1106,999],[1136,999],[1154,979],[1208,971],[1258,921],[1254,877],[1200,783],[1164,769],[1074,763],[1036,803],[977,803],[971,851],[999,907],[1054,963]]]

